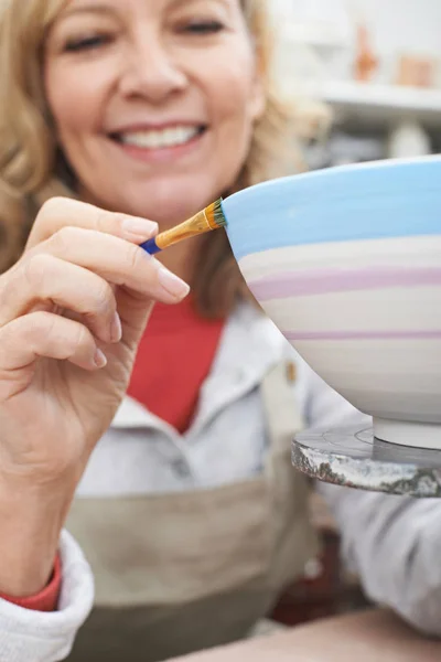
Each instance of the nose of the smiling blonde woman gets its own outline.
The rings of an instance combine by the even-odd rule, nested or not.
[[[142,96],[151,103],[161,103],[187,85],[185,73],[158,41],[143,41],[133,49],[120,79],[126,96]]]

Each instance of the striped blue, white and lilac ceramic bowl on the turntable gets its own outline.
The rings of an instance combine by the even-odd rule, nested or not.
[[[224,202],[244,277],[383,440],[441,449],[441,158],[342,167]]]

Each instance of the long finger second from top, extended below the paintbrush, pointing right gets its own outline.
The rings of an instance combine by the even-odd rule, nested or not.
[[[35,246],[24,259],[39,253],[49,253],[94,271],[114,285],[164,303],[176,303],[190,290],[181,278],[139,246],[93,229],[63,227]]]

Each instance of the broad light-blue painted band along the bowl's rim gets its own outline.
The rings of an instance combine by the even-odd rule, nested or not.
[[[441,157],[273,180],[224,200],[236,259],[291,245],[441,234]]]

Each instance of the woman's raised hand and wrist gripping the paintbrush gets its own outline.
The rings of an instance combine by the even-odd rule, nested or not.
[[[0,592],[44,586],[152,303],[189,291],[137,246],[157,229],[53,199],[20,261],[0,277]]]

